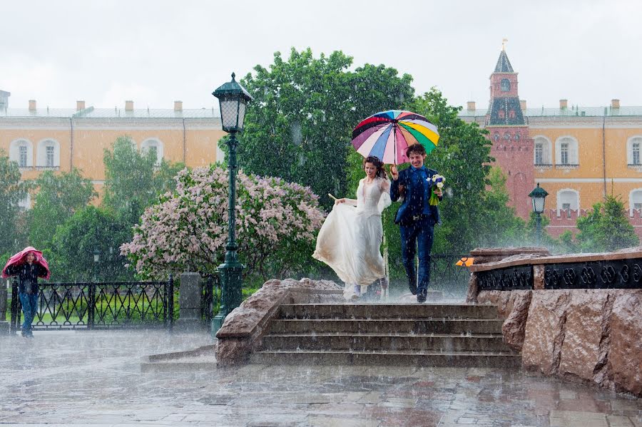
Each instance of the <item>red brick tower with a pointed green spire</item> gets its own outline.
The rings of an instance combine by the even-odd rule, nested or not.
[[[517,215],[528,219],[532,210],[529,192],[535,186],[534,143],[529,137],[529,127],[524,123],[519,103],[517,73],[513,71],[504,48],[499,53],[490,81],[491,97],[485,127],[493,143],[491,156],[506,175],[511,206],[515,207]]]

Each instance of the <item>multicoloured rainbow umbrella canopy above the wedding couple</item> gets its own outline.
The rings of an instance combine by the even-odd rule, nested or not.
[[[409,145],[421,144],[430,153],[438,142],[437,126],[412,111],[382,111],[352,130],[352,145],[357,153],[363,157],[374,155],[387,165],[407,163]]]

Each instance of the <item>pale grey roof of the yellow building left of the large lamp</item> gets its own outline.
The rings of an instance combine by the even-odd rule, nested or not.
[[[214,108],[191,108],[175,111],[171,108],[136,108],[126,111],[121,108],[93,108],[84,110],[75,108],[7,108],[2,110],[2,117],[16,118],[220,118],[218,110]]]

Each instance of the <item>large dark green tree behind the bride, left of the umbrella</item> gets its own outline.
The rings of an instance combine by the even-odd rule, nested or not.
[[[310,186],[325,206],[328,192],[345,194],[352,128],[414,93],[412,77],[394,68],[350,66],[341,51],[314,58],[309,48],[292,48],[287,61],[277,52],[269,69],[258,65],[245,76],[255,98],[238,148],[245,172]]]

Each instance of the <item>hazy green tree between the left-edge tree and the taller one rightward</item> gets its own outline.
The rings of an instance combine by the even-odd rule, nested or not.
[[[29,242],[39,249],[51,247],[56,227],[97,196],[93,184],[80,171],[42,173],[34,183],[38,193],[29,211]]]

